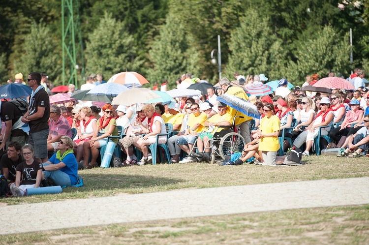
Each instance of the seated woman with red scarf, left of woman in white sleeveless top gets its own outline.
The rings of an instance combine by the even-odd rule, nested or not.
[[[142,105],[137,106],[136,116],[133,120],[127,129],[126,136],[119,142],[122,151],[127,154],[127,159],[123,162],[125,166],[137,163],[137,157],[133,154],[133,143],[141,138],[141,135],[144,133],[137,120],[140,120],[145,127],[148,124],[148,118],[143,111]]]

